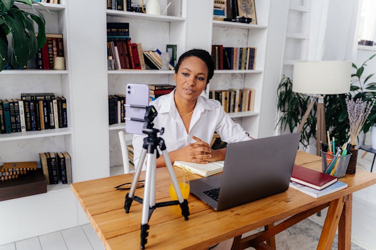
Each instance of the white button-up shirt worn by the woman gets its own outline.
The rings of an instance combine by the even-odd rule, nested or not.
[[[248,133],[224,111],[218,100],[199,96],[192,114],[189,133],[186,132],[184,123],[176,109],[173,98],[174,91],[165,94],[150,102],[158,112],[153,123],[154,128],[164,127],[164,133],[159,135],[164,139],[167,152],[184,147],[189,143],[196,142],[192,135],[208,142],[212,141],[216,131],[221,140],[227,143],[250,140]],[[137,166],[145,135],[133,135],[133,162]],[[145,169],[145,164],[143,169]]]

